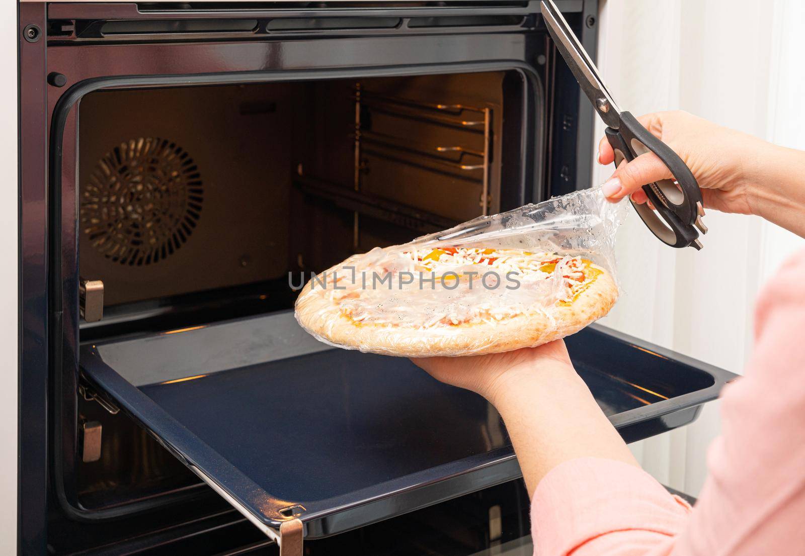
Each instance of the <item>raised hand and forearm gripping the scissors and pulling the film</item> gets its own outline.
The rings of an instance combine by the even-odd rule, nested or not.
[[[802,151],[776,146],[679,110],[649,113],[638,121],[691,169],[702,189],[705,209],[755,214],[805,237]],[[611,164],[613,160],[612,147],[602,138],[598,162]],[[635,203],[645,203],[641,187],[671,177],[656,154],[641,154],[630,163],[621,163],[604,183],[604,195],[613,201],[631,196]]]

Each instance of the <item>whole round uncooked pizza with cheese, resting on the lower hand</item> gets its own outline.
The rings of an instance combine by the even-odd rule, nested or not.
[[[295,304],[320,340],[394,356],[461,356],[534,347],[579,331],[617,300],[584,253],[400,245],[318,274]]]

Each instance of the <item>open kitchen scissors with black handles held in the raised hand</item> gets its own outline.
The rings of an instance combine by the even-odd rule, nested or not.
[[[671,247],[692,246],[701,249],[696,230],[707,233],[707,227],[702,222],[704,204],[699,184],[690,169],[678,154],[646,130],[636,117],[629,112],[621,112],[595,64],[555,4],[551,0],[543,0],[541,10],[556,49],[607,125],[606,138],[615,151],[615,167],[624,159],[634,160],[640,154],[653,152],[674,176],[674,179],[662,179],[642,187],[656,212],[648,204],[638,204],[630,199],[640,218],[663,243]]]

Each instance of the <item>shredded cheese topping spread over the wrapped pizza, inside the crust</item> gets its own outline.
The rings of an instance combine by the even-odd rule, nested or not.
[[[601,274],[578,256],[517,249],[375,251],[353,275],[339,274],[337,284],[343,290],[326,290],[342,315],[357,325],[456,327],[495,323],[529,311],[551,317],[551,307],[571,304]],[[378,286],[370,275],[363,282],[361,272],[378,272],[390,278],[391,287],[386,282]],[[413,281],[398,280],[403,272],[413,274]],[[515,281],[517,287],[511,287]]]

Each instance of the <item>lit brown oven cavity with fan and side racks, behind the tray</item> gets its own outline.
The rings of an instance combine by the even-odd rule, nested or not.
[[[81,342],[287,310],[301,273],[530,200],[518,178],[522,79],[90,93],[79,106],[79,267],[103,283],[103,318],[82,321]],[[203,487],[129,419],[78,404],[78,430],[100,425],[102,449],[76,461],[72,504],[102,513]]]

